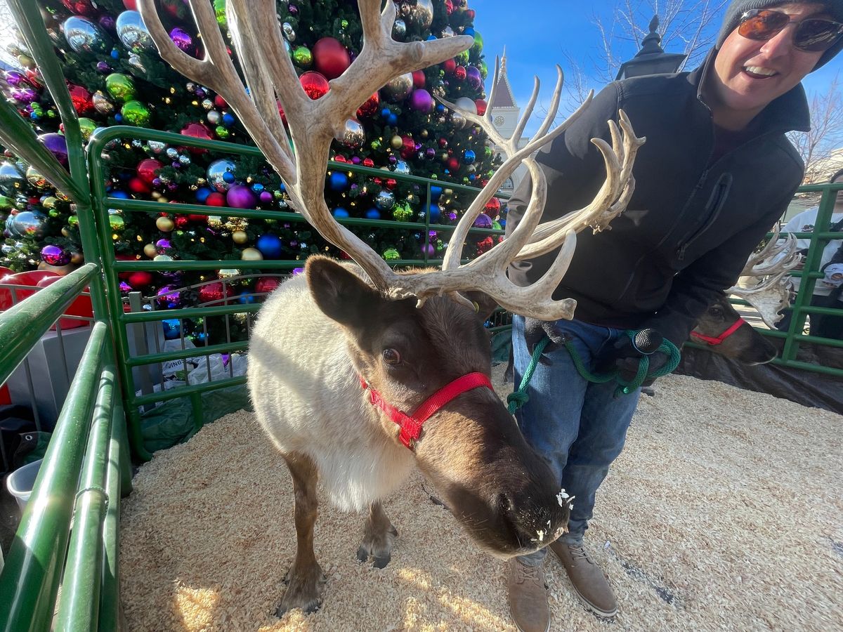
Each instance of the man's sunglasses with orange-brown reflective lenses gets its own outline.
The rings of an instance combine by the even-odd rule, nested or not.
[[[843,24],[831,19],[791,20],[787,13],[759,8],[744,13],[738,26],[738,35],[749,40],[771,40],[791,23],[796,24],[793,46],[800,51],[827,51],[843,35]]]

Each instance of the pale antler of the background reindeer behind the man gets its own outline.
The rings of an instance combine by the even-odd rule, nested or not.
[[[743,298],[771,328],[776,327],[784,314],[784,308],[791,303],[793,284],[788,272],[802,260],[797,249],[797,239],[788,234],[779,239],[779,229],[757,254],[752,254],[744,265],[741,279],[754,279],[752,287],[730,287],[726,293]]]

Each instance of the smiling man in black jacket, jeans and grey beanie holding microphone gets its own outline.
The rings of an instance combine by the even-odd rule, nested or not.
[[[733,0],[717,44],[693,72],[610,83],[588,110],[543,148],[547,177],[542,221],[593,199],[605,177],[592,137],[609,141],[607,121],[629,116],[639,149],[636,187],[609,230],[583,231],[554,297],[577,299],[572,320],[543,323],[513,316],[515,383],[545,336],[529,401],[516,419],[524,437],[575,496],[569,531],[545,549],[507,565],[507,594],[523,632],[550,627],[542,564],[561,560],[577,597],[602,617],[617,610],[603,571],[583,544],[595,493],[620,454],[639,390],[615,397],[617,383],[590,383],[562,343],[589,371],[609,362],[634,373],[642,353],[626,330],[654,329],[680,346],[711,300],[738,279],[749,254],[779,220],[803,179],[803,162],[785,136],[809,129],[802,79],[839,51],[843,0]],[[509,201],[512,233],[529,201],[529,178]],[[527,286],[556,253],[517,262],[511,280]],[[667,362],[653,353],[653,371]]]

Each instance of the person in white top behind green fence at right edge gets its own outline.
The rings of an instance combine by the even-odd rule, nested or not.
[[[829,179],[829,182],[843,182],[843,169],[835,172]],[[805,211],[794,215],[781,229],[782,233],[813,233],[814,224],[817,222],[817,214],[819,213],[819,206],[813,206]],[[830,232],[841,233],[840,239],[830,239],[829,243],[825,245],[823,254],[819,259],[819,270],[825,273],[821,279],[817,279],[813,286],[813,295],[811,297],[811,305],[815,308],[838,308],[843,309],[843,303],[840,303],[840,283],[836,282],[834,278],[833,259],[838,253],[843,254],[843,190],[837,192],[835,197],[835,208],[831,215]],[[811,245],[811,240],[808,238],[797,239],[797,248],[803,250],[808,254],[808,248]],[[803,269],[803,263],[797,265],[796,270]],[[831,270],[830,270],[831,268]],[[793,289],[799,291],[801,280],[798,276],[792,276]],[[787,312],[783,319],[781,319],[776,328],[781,331],[790,329],[792,312]],[[843,315],[835,316],[832,314],[810,314],[811,327],[809,329],[811,335],[817,335],[823,338],[840,339],[843,338]]]

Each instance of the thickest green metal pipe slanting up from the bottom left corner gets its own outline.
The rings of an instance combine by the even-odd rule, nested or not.
[[[107,333],[91,330],[0,575],[3,632],[50,629]]]

